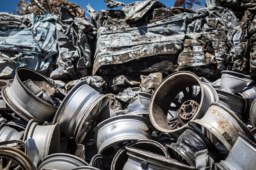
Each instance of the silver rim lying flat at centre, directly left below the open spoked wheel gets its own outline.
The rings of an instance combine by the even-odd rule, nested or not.
[[[150,120],[143,116],[120,115],[109,118],[94,129],[98,153],[113,158],[129,142],[151,139],[151,129]]]

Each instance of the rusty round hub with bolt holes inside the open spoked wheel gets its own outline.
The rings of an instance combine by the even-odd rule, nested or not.
[[[197,112],[199,104],[194,100],[185,101],[180,107],[180,117],[184,120],[191,119]]]

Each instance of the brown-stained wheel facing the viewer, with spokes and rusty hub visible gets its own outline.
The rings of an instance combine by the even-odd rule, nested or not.
[[[157,86],[149,104],[149,117],[155,128],[178,137],[190,120],[203,117],[213,101],[219,98],[212,86],[202,84],[193,73],[178,72]]]

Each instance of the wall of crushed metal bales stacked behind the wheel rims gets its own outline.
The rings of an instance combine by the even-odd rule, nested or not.
[[[154,0],[105,3],[122,9],[88,4],[87,18],[66,0],[21,0],[20,15],[0,13],[0,79],[29,67],[66,92],[86,80],[110,94],[118,111],[177,71],[210,81],[223,70],[256,77],[254,0],[206,0],[198,10]]]

